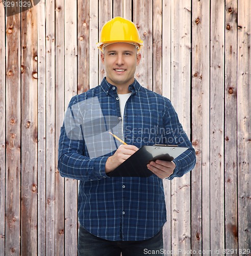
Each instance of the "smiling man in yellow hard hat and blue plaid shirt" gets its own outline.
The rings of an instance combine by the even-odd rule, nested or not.
[[[61,176],[80,180],[78,254],[161,254],[166,222],[162,179],[189,172],[195,152],[170,101],[134,78],[142,46],[136,26],[116,17],[103,26],[100,39],[106,77],[71,99],[59,140]],[[140,147],[154,144],[188,150],[171,162],[151,161],[150,177],[109,177]]]

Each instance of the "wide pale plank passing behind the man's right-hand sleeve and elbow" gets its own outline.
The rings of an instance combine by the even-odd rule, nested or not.
[[[171,101],[189,137],[191,3],[172,1],[171,4]],[[191,249],[190,174],[171,182],[171,196],[172,249],[188,251]]]

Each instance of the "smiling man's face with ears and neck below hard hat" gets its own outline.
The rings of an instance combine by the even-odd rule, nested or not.
[[[101,54],[106,69],[106,79],[116,86],[120,93],[128,92],[128,86],[134,81],[140,58],[141,55],[137,54],[136,47],[125,42],[108,45]]]

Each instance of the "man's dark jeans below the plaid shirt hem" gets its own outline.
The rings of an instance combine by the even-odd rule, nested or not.
[[[163,255],[162,229],[153,237],[143,241],[109,241],[93,236],[82,226],[79,228],[78,256],[140,256]],[[154,251],[154,252],[153,252]]]

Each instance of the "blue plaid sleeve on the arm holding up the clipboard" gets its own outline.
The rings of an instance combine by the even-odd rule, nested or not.
[[[173,160],[176,167],[174,168],[173,174],[167,178],[172,180],[175,177],[182,177],[184,174],[190,172],[195,166],[196,156],[192,143],[184,132],[178,115],[168,99],[166,99],[163,121],[168,144],[188,147],[188,150]]]

